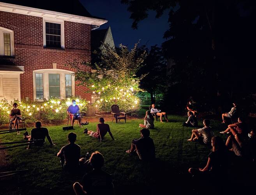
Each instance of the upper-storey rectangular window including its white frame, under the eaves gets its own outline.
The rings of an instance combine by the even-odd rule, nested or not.
[[[43,19],[44,47],[64,48],[64,22]]]

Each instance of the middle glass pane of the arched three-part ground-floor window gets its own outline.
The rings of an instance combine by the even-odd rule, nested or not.
[[[60,74],[49,74],[49,97],[60,98]]]

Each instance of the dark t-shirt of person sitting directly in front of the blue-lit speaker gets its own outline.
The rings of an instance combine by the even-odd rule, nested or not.
[[[73,168],[79,166],[81,147],[76,143],[69,143],[60,149],[60,155],[65,158],[64,167]]]

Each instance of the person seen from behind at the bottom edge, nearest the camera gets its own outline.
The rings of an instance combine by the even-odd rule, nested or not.
[[[90,164],[93,171],[83,176],[81,184],[76,182],[73,185],[76,195],[113,195],[114,187],[111,175],[101,170],[104,165],[102,154],[97,151],[92,153]]]

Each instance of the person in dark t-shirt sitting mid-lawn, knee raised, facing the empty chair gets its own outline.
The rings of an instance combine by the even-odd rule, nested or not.
[[[136,152],[140,160],[155,159],[155,145],[152,138],[149,137],[150,131],[141,129],[140,135],[141,138],[132,140],[131,149],[127,150],[126,153]]]

